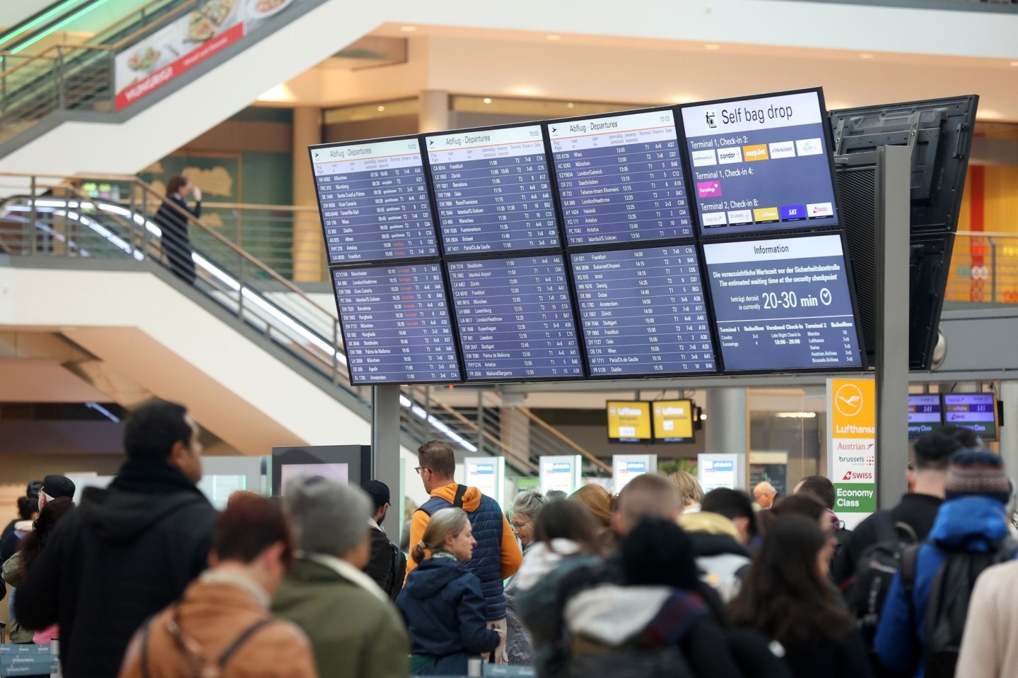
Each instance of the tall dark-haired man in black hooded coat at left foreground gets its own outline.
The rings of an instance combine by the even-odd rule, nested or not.
[[[199,427],[183,406],[147,404],[124,428],[127,461],[87,488],[17,590],[32,629],[60,625],[66,678],[113,678],[142,623],[205,569],[216,510],[202,479]]]

